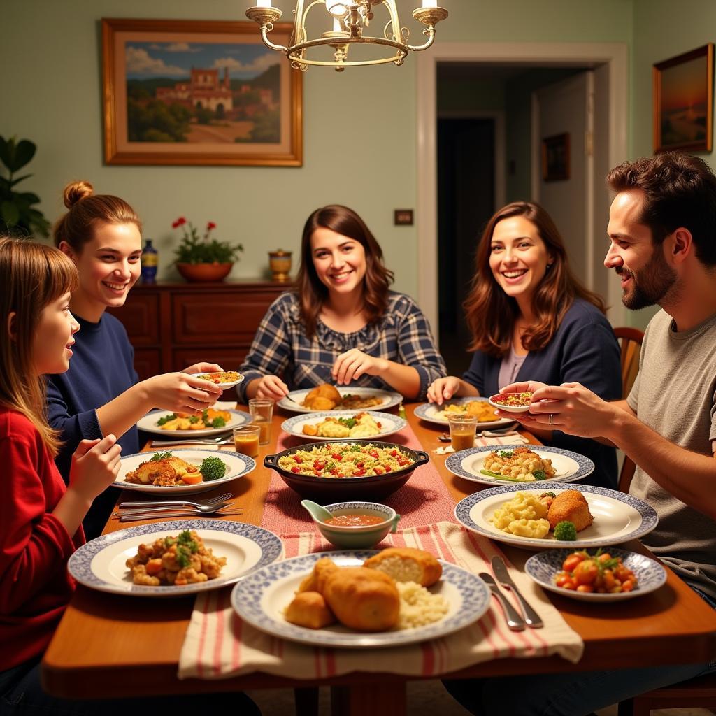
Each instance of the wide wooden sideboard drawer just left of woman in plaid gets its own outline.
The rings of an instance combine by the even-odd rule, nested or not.
[[[266,296],[175,294],[173,339],[178,344],[251,345],[266,313]]]

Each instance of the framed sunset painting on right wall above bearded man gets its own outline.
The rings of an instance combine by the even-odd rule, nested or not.
[[[654,65],[654,152],[710,152],[714,45]]]

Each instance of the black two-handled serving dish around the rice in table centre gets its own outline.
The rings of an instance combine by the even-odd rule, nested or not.
[[[397,445],[395,442],[380,442],[379,440],[345,440],[351,445],[374,445],[376,448],[388,448],[390,450],[397,449],[401,453],[407,455],[413,462],[412,465],[395,470],[392,473],[384,475],[369,475],[360,478],[316,478],[314,475],[300,475],[292,473],[290,470],[284,470],[279,465],[279,460],[284,455],[292,455],[300,450],[311,450],[312,448],[322,448],[327,446],[333,448],[336,442],[310,442],[307,445],[299,445],[297,448],[289,448],[282,450],[276,455],[266,455],[263,459],[263,466],[270,470],[276,470],[281,479],[284,480],[289,488],[296,490],[301,497],[315,500],[321,505],[332,503],[337,500],[382,500],[402,488],[408,480],[415,468],[430,460],[427,453],[423,450],[410,450],[404,445]]]

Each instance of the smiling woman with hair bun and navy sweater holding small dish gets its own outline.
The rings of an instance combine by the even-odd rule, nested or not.
[[[57,465],[67,479],[80,440],[111,432],[120,436],[122,453],[131,455],[140,447],[135,424],[152,408],[194,413],[213,405],[221,389],[191,374],[221,367],[200,363],[137,382],[125,327],[105,311],[122,306],[140,276],[140,220],[126,201],[95,194],[85,181],[65,187],[64,205],[68,211],[54,228],[54,243],[79,271],[69,306],[82,332],[69,370],[49,378],[47,402],[49,423],[64,443]],[[84,521],[87,536],[101,533],[117,494],[110,488],[95,500]]]

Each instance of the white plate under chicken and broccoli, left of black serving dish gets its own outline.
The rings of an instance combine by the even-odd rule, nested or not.
[[[218,480],[210,482],[200,482],[198,485],[174,485],[173,487],[158,487],[157,485],[140,485],[139,483],[128,483],[125,475],[136,470],[142,463],[147,462],[155,453],[172,453],[177,458],[186,460],[186,462],[201,466],[204,458],[220,458],[226,463],[226,475]],[[248,458],[240,453],[230,453],[228,450],[190,450],[189,448],[169,448],[169,450],[153,450],[148,453],[135,453],[135,455],[127,455],[122,458],[120,472],[117,479],[113,483],[116,488],[124,490],[138,490],[139,492],[151,493],[157,497],[163,495],[191,495],[193,493],[204,492],[205,490],[213,490],[218,485],[229,483],[231,480],[248,475],[256,468],[253,458]]]

